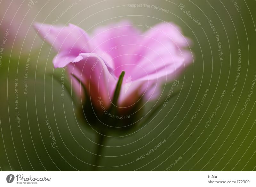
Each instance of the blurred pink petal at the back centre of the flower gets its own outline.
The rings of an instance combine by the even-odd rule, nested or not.
[[[140,34],[140,31],[129,21],[100,27],[94,31],[92,40],[102,51],[113,58],[114,66],[112,68],[115,69],[116,77],[120,75],[122,70],[128,73],[131,68],[125,66],[126,64],[133,64],[137,61],[138,57],[132,55],[134,47],[131,47],[131,44],[139,42]]]

